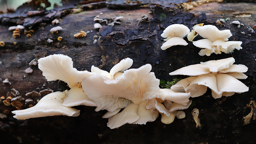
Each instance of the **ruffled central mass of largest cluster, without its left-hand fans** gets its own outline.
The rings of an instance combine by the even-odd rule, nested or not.
[[[85,94],[97,104],[96,111],[109,111],[104,118],[109,118],[107,126],[111,129],[126,123],[146,124],[156,120],[159,112],[170,116],[168,109],[161,104],[165,100],[182,105],[190,102],[190,93],[160,89],[160,80],[150,72],[150,64],[127,69],[131,64],[132,60],[126,58],[110,73],[92,68],[97,74],[84,78],[81,83]],[[117,73],[119,76],[115,78]]]

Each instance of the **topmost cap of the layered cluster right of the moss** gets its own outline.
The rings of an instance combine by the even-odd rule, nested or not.
[[[204,68],[209,69],[211,72],[217,72],[228,68],[232,64],[234,64],[235,59],[233,57],[226,58],[226,59],[219,59],[219,60],[211,60],[206,62],[201,62]]]

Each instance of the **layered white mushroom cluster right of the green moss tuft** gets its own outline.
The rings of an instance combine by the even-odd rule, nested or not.
[[[178,92],[190,92],[191,97],[203,95],[207,87],[211,89],[212,96],[217,99],[222,96],[231,96],[236,93],[247,92],[249,87],[238,79],[246,79],[244,74],[248,68],[242,64],[233,64],[235,59],[211,60],[185,66],[170,75],[191,76],[180,80],[171,87],[171,90]]]

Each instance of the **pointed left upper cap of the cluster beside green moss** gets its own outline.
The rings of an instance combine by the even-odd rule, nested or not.
[[[185,66],[176,71],[169,73],[169,75],[187,75],[187,76],[199,76],[203,74],[211,73],[209,69],[205,68],[202,64],[194,64],[190,66]]]

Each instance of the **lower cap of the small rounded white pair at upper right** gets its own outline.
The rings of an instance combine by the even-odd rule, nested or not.
[[[174,45],[188,45],[188,43],[186,42],[186,40],[183,40],[183,38],[173,37],[169,38],[166,42],[164,42],[163,45],[161,46],[161,49],[166,50]]]

